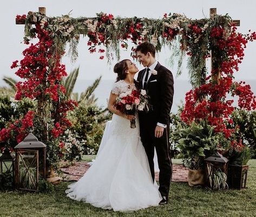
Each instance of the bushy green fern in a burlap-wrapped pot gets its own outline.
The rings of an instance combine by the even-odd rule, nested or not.
[[[221,149],[219,144],[225,146],[225,136],[214,132],[214,127],[206,121],[192,122],[190,126],[179,129],[173,134],[179,136],[178,148],[183,159],[183,164],[189,169],[188,185],[204,185],[205,158]]]

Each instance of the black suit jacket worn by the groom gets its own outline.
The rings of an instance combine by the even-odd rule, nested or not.
[[[157,63],[155,70],[156,75],[151,75],[147,82],[147,95],[150,97],[150,104],[152,110],[148,113],[142,111],[139,113],[140,121],[150,123],[163,123],[169,124],[170,122],[170,109],[173,104],[173,75],[170,70],[163,67],[159,62]],[[137,77],[139,89],[142,89],[142,78],[146,69],[139,72]]]

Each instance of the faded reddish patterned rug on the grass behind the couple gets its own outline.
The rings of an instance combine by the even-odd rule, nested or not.
[[[77,181],[79,180],[87,169],[90,168],[88,162],[75,162],[74,165],[67,168],[61,168],[63,181]],[[187,182],[188,169],[182,165],[173,165],[173,182]],[[156,181],[159,180],[159,172],[155,173]]]

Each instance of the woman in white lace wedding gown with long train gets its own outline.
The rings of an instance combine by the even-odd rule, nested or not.
[[[130,120],[135,117],[122,114],[114,107],[117,96],[136,89],[134,76],[137,71],[139,69],[130,60],[115,64],[117,79],[108,104],[113,118],[109,130],[104,131],[108,139],[84,176],[68,186],[69,198],[121,212],[157,206],[162,200],[150,175],[137,115],[136,128],[132,129]]]

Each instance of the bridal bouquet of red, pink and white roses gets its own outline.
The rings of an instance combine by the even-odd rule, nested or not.
[[[135,115],[137,111],[149,111],[150,104],[146,90],[130,90],[116,98],[115,108],[126,115]],[[130,128],[136,128],[135,119],[130,120]]]

